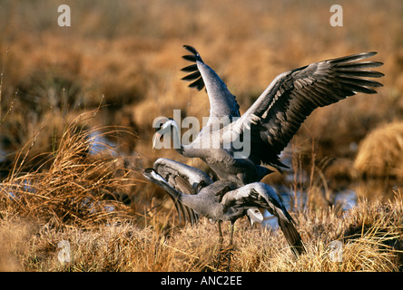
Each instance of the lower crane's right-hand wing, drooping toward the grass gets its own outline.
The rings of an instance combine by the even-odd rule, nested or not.
[[[300,234],[294,227],[294,220],[270,186],[261,182],[250,183],[226,193],[221,203],[225,208],[243,208],[245,210],[266,208],[270,214],[278,218],[279,226],[293,253],[298,256],[305,252]]]

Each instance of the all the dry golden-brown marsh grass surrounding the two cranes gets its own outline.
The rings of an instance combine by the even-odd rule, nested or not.
[[[73,12],[68,28],[57,26],[54,1],[9,1],[0,10],[0,270],[225,270],[228,255],[217,268],[216,227],[205,219],[176,227],[172,203],[138,172],[162,156],[206,169],[150,145],[155,117],[208,114],[205,93],[180,80],[182,44],[197,47],[241,111],[279,73],[378,51],[385,87],[313,112],[293,140],[288,186],[308,195],[292,210],[307,255],[295,259],[280,232],[241,220],[230,269],[402,270],[401,1],[342,1],[339,28],[329,25],[329,1],[64,4]],[[103,150],[93,152],[94,143]],[[361,179],[354,160],[378,179]],[[342,187],[359,195],[345,214],[329,207]],[[62,240],[71,262],[58,260]],[[343,243],[342,262],[331,260],[334,240]]]

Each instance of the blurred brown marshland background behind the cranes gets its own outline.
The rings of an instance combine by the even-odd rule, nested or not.
[[[384,87],[314,111],[292,140],[288,158],[294,172],[307,172],[310,183],[330,187],[358,180],[365,194],[388,195],[403,176],[403,2],[338,1],[342,27],[329,24],[334,4],[0,1],[1,178],[39,130],[33,155],[51,152],[59,127],[100,106],[86,125],[132,131],[136,138],[121,150],[136,159],[136,168],[166,157],[207,170],[173,150],[152,151],[156,117],[172,117],[180,109],[182,118],[202,121],[209,113],[205,92],[181,81],[180,69],[188,64],[181,58],[183,44],[194,46],[227,83],[241,112],[279,73],[377,51],[371,60],[385,63],[379,68]],[[70,27],[57,24],[59,5],[70,6]],[[25,171],[30,166],[38,168],[27,162]],[[283,178],[274,174],[268,181]],[[292,173],[290,178],[303,179]]]

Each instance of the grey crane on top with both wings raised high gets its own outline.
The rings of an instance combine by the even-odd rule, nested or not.
[[[280,73],[241,115],[238,102],[217,73],[202,61],[201,55],[192,46],[184,45],[184,48],[192,54],[183,58],[192,64],[182,69],[190,73],[182,79],[192,81],[190,87],[199,91],[206,88],[211,107],[209,121],[191,144],[183,145],[176,122],[162,118],[157,124],[152,145],[156,147],[162,135],[172,132],[173,140],[180,144],[175,150],[185,157],[202,159],[219,179],[232,181],[240,187],[260,181],[272,172],[261,164],[280,171],[287,168],[280,162],[279,154],[313,110],[357,92],[376,93],[370,87],[382,84],[367,78],[384,76],[383,73],[367,70],[383,63],[362,61],[376,52],[310,63]],[[222,120],[227,122],[222,125]],[[220,146],[204,146],[211,140],[219,140]],[[234,146],[239,140],[249,146],[246,154],[244,148]]]

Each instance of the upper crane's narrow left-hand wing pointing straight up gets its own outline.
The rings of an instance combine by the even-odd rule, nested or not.
[[[192,83],[189,86],[199,91],[204,86],[206,87],[210,100],[210,117],[228,117],[229,121],[233,117],[240,117],[240,106],[235,96],[231,94],[217,73],[202,61],[202,57],[192,46],[183,45],[183,47],[192,54],[183,55],[182,57],[193,64],[182,68],[182,72],[190,73],[183,77],[182,80],[191,81]]]

